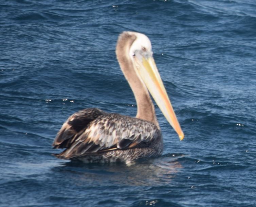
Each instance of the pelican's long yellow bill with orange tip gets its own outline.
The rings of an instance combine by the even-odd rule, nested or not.
[[[141,61],[136,61],[136,62],[141,63]],[[171,106],[171,102],[166,93],[164,84],[159,75],[159,72],[153,57],[149,57],[147,59],[143,57],[142,64],[140,64],[140,66],[141,67],[138,67],[137,69],[141,79],[145,83],[150,94],[152,95],[153,99],[156,101],[157,105],[161,109],[167,121],[170,123],[173,129],[178,133],[180,140],[183,140],[184,133],[180,127],[178,119]]]

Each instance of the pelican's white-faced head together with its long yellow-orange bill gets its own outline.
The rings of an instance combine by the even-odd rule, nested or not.
[[[163,112],[163,115],[173,129],[178,133],[180,140],[182,140],[184,138],[184,133],[181,130],[175,112],[173,111],[156,63],[153,59],[150,40],[146,35],[141,33],[128,33],[136,36],[136,39],[130,47],[129,56],[132,60],[137,76],[145,84],[153,99]]]

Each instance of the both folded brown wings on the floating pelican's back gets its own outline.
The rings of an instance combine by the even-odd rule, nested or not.
[[[53,146],[66,148],[57,157],[72,159],[110,150],[146,148],[160,136],[160,130],[151,122],[85,109],[63,124]]]

